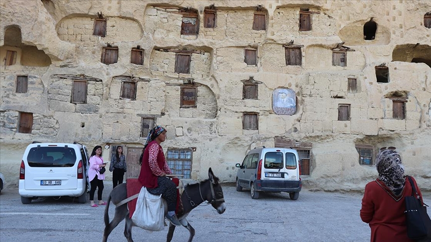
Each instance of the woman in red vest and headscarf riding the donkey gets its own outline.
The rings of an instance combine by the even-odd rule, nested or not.
[[[168,204],[166,218],[173,225],[181,225],[178,221],[175,209],[177,206],[177,185],[166,174],[172,174],[166,163],[160,143],[166,140],[166,129],[160,125],[150,130],[144,145],[144,156],[142,158],[139,182],[146,187],[148,192],[154,195],[162,194]]]

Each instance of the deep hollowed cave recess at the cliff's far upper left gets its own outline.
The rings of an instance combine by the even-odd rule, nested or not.
[[[36,46],[25,45],[21,41],[19,27],[6,27],[4,45],[0,48],[0,59],[7,62],[5,65],[7,69],[16,69],[18,66],[47,67],[51,65],[51,59],[43,50],[38,50]]]

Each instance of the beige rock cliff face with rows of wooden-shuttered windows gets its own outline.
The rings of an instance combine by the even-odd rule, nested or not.
[[[287,146],[307,188],[363,190],[378,149],[396,146],[429,190],[430,10],[421,0],[2,0],[1,172],[16,185],[33,140],[79,141],[107,144],[105,159],[125,146],[137,176],[157,124],[173,169],[191,179],[212,167],[233,182],[248,150]],[[296,94],[293,115],[273,111],[276,89]]]

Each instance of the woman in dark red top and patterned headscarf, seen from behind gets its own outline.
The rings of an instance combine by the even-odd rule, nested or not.
[[[404,175],[401,156],[395,147],[380,149],[376,157],[379,178],[365,186],[361,219],[371,228],[371,242],[414,242],[407,236],[406,203],[412,186]],[[412,177],[422,199],[421,191]]]

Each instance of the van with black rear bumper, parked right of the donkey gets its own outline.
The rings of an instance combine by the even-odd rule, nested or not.
[[[288,192],[297,200],[302,188],[298,152],[288,148],[255,148],[237,163],[236,191],[250,189],[253,199],[259,192]]]

